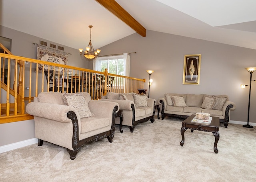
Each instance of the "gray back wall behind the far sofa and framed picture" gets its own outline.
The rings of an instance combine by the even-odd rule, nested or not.
[[[146,37],[134,33],[100,48],[101,55],[137,52],[131,54],[130,76],[146,78],[148,89],[151,78],[150,98],[156,100],[165,93],[227,94],[236,104],[230,119],[247,121],[249,88],[240,84],[250,83],[250,73],[245,67],[256,67],[256,50],[147,31]],[[182,84],[184,55],[201,54],[200,85]],[[252,75],[256,79],[256,72]],[[256,83],[252,82],[250,122],[256,122]]]

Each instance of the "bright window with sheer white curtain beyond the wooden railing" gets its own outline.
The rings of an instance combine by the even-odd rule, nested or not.
[[[94,61],[93,69],[104,72],[108,68],[108,72],[122,76],[129,76],[130,74],[130,55],[98,57]]]

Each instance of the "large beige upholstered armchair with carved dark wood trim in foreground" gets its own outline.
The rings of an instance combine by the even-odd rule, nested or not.
[[[43,141],[65,147],[70,159],[75,159],[86,143],[108,138],[111,143],[115,133],[115,115],[118,104],[91,100],[90,94],[42,92],[26,106],[34,115],[38,146]]]

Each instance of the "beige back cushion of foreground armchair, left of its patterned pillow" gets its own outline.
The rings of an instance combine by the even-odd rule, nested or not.
[[[38,94],[38,102],[65,105],[61,92],[41,92]]]

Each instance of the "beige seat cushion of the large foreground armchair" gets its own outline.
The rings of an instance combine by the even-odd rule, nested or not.
[[[102,116],[84,117],[81,119],[81,133],[101,129],[109,125],[109,119]]]

